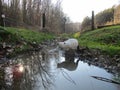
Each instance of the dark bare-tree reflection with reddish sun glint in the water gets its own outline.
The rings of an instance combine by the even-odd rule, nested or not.
[[[4,64],[0,73],[3,79],[0,82],[3,86],[1,89],[33,90],[39,87],[40,90],[48,90],[53,85],[54,77],[49,70],[48,57],[49,54],[43,50],[20,55]],[[23,67],[18,65],[24,66],[24,72]]]

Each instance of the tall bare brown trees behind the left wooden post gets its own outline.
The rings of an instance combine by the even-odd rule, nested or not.
[[[54,4],[51,0],[0,0],[0,14],[5,14],[6,26],[40,29],[43,13],[47,31],[64,32],[65,15],[61,8],[61,0],[56,0]]]

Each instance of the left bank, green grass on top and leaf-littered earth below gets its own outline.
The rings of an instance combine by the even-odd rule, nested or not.
[[[0,27],[0,48],[2,48],[4,43],[5,46],[9,46],[13,51],[12,53],[15,54],[28,49],[37,48],[41,42],[51,40],[54,37],[53,34],[37,32],[34,30],[11,27],[3,29],[3,27]]]

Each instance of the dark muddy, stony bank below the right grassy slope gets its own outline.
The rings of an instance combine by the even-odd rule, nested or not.
[[[110,73],[120,72],[120,56],[106,55],[99,49],[80,48],[77,51],[80,60],[87,62],[89,65],[95,65],[106,69]]]

